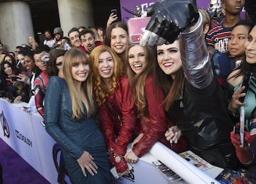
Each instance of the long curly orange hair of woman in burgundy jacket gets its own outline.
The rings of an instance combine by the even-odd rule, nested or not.
[[[110,88],[107,87],[107,84],[98,72],[99,58],[102,52],[109,52],[114,62],[114,72],[112,74],[112,78],[110,79]],[[107,45],[100,45],[95,47],[95,49],[90,53],[90,68],[92,69],[95,100],[97,105],[101,105],[105,102],[108,96],[110,96],[117,88],[119,88],[117,81],[124,74],[123,62],[114,52],[114,50],[112,50],[112,48],[108,47]]]

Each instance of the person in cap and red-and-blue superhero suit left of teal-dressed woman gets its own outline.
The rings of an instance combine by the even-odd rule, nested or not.
[[[47,45],[38,45],[33,55],[36,66],[41,69],[41,74],[34,81],[35,101],[38,113],[44,117],[43,100],[46,96],[46,88],[48,86],[49,76],[46,71],[47,62],[50,59],[50,48]]]

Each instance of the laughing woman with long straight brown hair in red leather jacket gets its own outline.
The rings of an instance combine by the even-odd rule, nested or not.
[[[186,140],[181,137],[181,130],[174,126],[171,141],[167,142],[164,133],[167,127],[174,124],[166,117],[162,102],[164,92],[153,79],[153,62],[156,62],[154,51],[145,45],[129,45],[127,49],[127,76],[133,87],[135,104],[141,125],[139,136],[132,142],[132,151],[125,155],[125,159],[131,163],[136,163],[139,157],[147,151],[157,141],[161,141],[166,146],[176,152],[186,151]],[[178,143],[178,144],[177,144]],[[172,147],[173,146],[173,147]]]

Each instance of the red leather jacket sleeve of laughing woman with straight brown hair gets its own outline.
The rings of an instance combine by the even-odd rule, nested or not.
[[[149,76],[146,79],[146,98],[149,108],[149,117],[141,117],[140,122],[144,136],[134,146],[132,151],[138,157],[146,154],[147,151],[157,142],[167,130],[167,118],[161,103],[164,100],[164,93],[158,88],[158,94],[154,95],[153,78]]]

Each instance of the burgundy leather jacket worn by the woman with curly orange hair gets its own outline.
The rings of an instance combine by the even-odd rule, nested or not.
[[[124,155],[139,123],[129,80],[122,77],[118,84],[119,88],[99,106],[98,112],[107,148]]]

